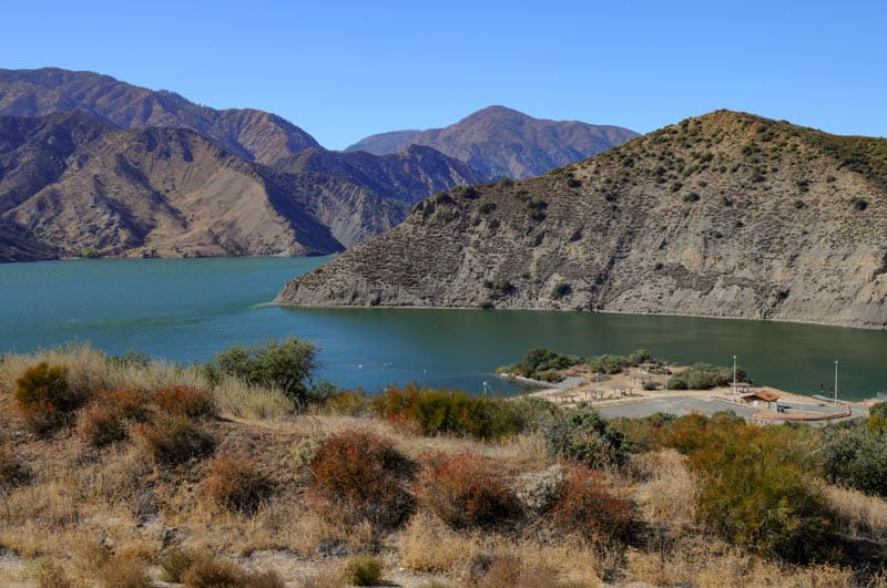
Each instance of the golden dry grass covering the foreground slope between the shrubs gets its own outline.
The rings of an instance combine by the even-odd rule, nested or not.
[[[204,420],[201,426],[217,441],[217,455],[249,456],[275,492],[255,512],[230,512],[205,496],[208,461],[159,467],[146,458],[137,435],[101,448],[73,426],[51,439],[33,435],[14,409],[12,391],[16,378],[40,360],[69,367],[72,383],[93,393],[125,389],[147,395],[171,385],[208,385],[192,368],[122,364],[83,347],[0,361],[0,446],[7,447],[7,465],[14,456],[30,474],[21,483],[0,488],[0,547],[14,554],[4,557],[0,550],[0,584],[141,586],[144,571],[156,575],[161,554],[174,546],[233,561],[244,570],[285,570],[283,578],[290,582],[325,587],[341,585],[346,556],[370,549],[384,560],[386,570],[408,570],[407,579],[394,571],[389,578],[405,585],[443,580],[465,586],[472,581],[469,571],[479,557],[498,564],[477,579],[478,586],[500,580],[514,586],[533,581],[598,586],[604,577],[614,585],[839,586],[858,581],[847,569],[782,567],[700,535],[693,524],[694,479],[684,458],[672,451],[636,455],[624,470],[605,474],[633,497],[639,517],[651,530],[648,535],[656,539],[628,551],[552,534],[543,524],[548,514],[493,532],[452,530],[425,506],[391,533],[380,533],[366,520],[337,525],[307,504],[313,474],[295,457],[298,446],[310,444],[306,440],[368,430],[389,439],[410,458],[429,451],[473,452],[495,462],[503,476],[543,472],[553,462],[538,435],[482,443],[425,437],[371,417],[294,416],[279,393],[236,381],[224,381],[214,390],[224,417]],[[134,424],[128,426],[134,429]],[[825,494],[840,516],[842,530],[885,540],[885,501],[830,486]]]

